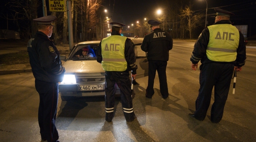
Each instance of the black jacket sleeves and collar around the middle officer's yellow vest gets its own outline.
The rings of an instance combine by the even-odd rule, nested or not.
[[[121,34],[117,31],[112,31],[111,35],[121,36]],[[137,70],[138,66],[136,65],[136,56],[135,56],[135,51],[134,51],[131,39],[127,38],[125,41],[124,55],[125,55],[125,59],[127,62],[126,71],[132,71],[132,74],[137,74],[136,70]],[[97,49],[97,62],[99,62],[99,63],[102,62],[101,41],[100,41],[100,45],[98,46],[98,49]]]

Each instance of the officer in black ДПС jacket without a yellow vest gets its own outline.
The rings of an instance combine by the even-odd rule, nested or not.
[[[167,79],[166,79],[166,66],[169,60],[169,50],[172,49],[173,40],[168,32],[161,30],[159,27],[160,22],[149,20],[152,32],[145,35],[141,49],[148,52],[148,87],[146,89],[146,97],[152,98],[154,95],[154,79],[156,70],[158,72],[160,82],[160,92],[164,99],[169,96]]]

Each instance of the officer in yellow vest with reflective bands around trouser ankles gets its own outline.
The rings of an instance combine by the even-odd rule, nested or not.
[[[126,121],[133,121],[136,116],[132,108],[132,90],[129,71],[136,77],[136,56],[132,41],[121,36],[124,24],[112,22],[111,36],[102,39],[97,51],[97,61],[105,71],[105,107],[106,121],[111,122],[114,115],[115,91],[120,88],[121,103]],[[117,84],[117,86],[115,85]]]

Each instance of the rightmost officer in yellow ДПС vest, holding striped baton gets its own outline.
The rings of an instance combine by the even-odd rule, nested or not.
[[[234,69],[242,70],[245,65],[245,43],[241,32],[232,26],[229,11],[219,8],[215,23],[205,28],[198,37],[192,56],[191,68],[196,70],[199,60],[200,89],[195,101],[195,112],[189,116],[197,120],[204,120],[210,105],[214,86],[214,103],[210,118],[213,123],[219,123],[223,116],[224,105],[228,98],[228,91]]]

